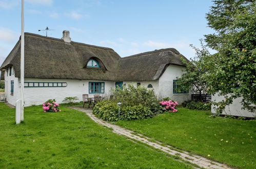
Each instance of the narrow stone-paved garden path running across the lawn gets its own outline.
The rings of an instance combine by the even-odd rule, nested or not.
[[[146,143],[152,147],[154,147],[155,149],[159,149],[163,152],[166,152],[170,155],[173,156],[179,156],[180,158],[182,158],[184,161],[188,161],[192,164],[196,164],[199,167],[203,167],[203,168],[229,168],[227,165],[225,164],[221,164],[219,162],[215,162],[215,161],[211,161],[208,160],[204,157],[198,156],[198,155],[191,155],[188,152],[185,151],[175,151],[174,147],[172,146],[163,146],[161,145],[161,142],[151,142],[149,141],[150,138],[143,136],[141,134],[137,134],[135,135],[133,131],[121,128],[119,125],[115,125],[115,124],[110,124],[104,120],[101,120],[97,117],[95,117],[92,114],[92,110],[91,109],[83,109],[83,108],[77,108],[77,107],[72,107],[70,109],[74,109],[74,110],[78,110],[81,112],[85,112],[93,121],[95,121],[96,123],[102,124],[104,126],[107,126],[108,128],[113,129],[113,132],[119,135],[123,135],[126,136],[130,139],[134,139],[143,143]]]

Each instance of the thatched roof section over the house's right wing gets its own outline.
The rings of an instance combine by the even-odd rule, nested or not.
[[[156,80],[170,64],[186,66],[181,57],[184,56],[174,48],[123,57],[119,61],[119,77],[117,78],[119,80]],[[187,60],[186,57],[184,58]]]

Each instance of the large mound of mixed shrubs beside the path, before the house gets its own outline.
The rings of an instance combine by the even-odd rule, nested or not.
[[[144,87],[128,85],[123,90],[112,90],[113,98],[106,99],[93,108],[93,114],[107,121],[117,121],[119,108],[117,103],[121,102],[120,120],[147,119],[165,111],[177,112],[177,102],[166,101],[168,105],[161,104],[163,101],[157,99],[154,90]],[[169,98],[168,98],[169,99]],[[161,102],[160,102],[161,101]]]

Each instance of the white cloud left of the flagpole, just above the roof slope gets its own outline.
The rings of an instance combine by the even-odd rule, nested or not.
[[[0,27],[0,40],[5,43],[14,43],[18,39],[18,34],[10,29]]]

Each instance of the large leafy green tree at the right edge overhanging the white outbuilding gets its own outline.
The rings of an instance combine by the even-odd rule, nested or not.
[[[255,1],[216,0],[206,14],[215,33],[205,35],[208,47],[217,51],[203,57],[204,78],[210,94],[224,95],[216,103],[221,113],[234,98],[243,97],[244,109],[256,107],[256,15]]]

